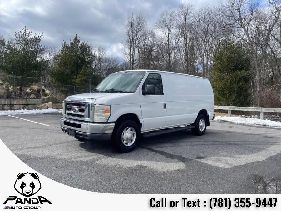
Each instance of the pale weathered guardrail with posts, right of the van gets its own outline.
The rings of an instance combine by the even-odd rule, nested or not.
[[[264,119],[264,112],[281,113],[281,108],[214,106],[214,109],[227,110],[229,117],[231,117],[231,111],[256,111],[260,112],[260,119]]]

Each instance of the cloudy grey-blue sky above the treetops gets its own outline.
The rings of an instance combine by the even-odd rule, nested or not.
[[[0,0],[0,34],[14,37],[26,26],[44,32],[44,45],[57,47],[78,34],[82,41],[105,47],[108,55],[121,57],[126,17],[144,13],[153,26],[161,12],[184,2],[195,8],[219,4],[219,0]]]

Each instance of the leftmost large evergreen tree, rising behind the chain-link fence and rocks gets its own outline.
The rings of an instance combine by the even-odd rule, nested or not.
[[[12,41],[0,38],[0,71],[9,75],[41,77],[44,61],[40,58],[45,51],[42,39],[43,34],[33,35],[26,27],[17,32]],[[20,86],[19,96],[22,96],[23,86],[34,82],[38,80],[16,77],[15,85]]]

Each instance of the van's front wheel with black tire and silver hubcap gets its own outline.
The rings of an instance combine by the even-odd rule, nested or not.
[[[140,139],[140,129],[136,122],[126,120],[121,123],[112,135],[112,141],[116,150],[120,152],[131,152]]]

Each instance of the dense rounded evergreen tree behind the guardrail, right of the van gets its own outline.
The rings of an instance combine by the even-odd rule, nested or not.
[[[251,105],[250,58],[242,44],[235,40],[219,43],[214,52],[212,86],[215,105]]]

